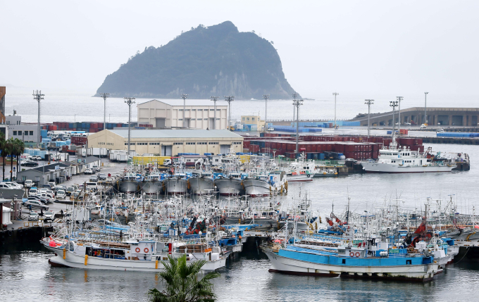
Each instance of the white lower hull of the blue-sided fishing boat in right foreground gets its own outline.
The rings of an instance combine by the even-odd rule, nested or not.
[[[263,251],[271,262],[269,272],[281,272],[290,275],[385,278],[425,282],[433,279],[435,272],[438,270],[437,264],[434,263],[394,266],[330,265],[287,258],[267,248],[263,248]]]

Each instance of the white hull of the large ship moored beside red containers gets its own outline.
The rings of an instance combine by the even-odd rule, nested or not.
[[[401,166],[389,163],[361,163],[367,173],[427,173],[427,172],[451,172],[455,165],[426,165],[426,166]]]

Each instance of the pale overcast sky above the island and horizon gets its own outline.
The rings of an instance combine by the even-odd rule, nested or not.
[[[305,97],[479,96],[479,1],[0,0],[0,84],[94,94],[145,46],[230,20]]]

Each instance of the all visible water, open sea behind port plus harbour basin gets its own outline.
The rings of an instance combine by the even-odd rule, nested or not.
[[[350,100],[342,104],[337,111],[338,118],[352,118],[364,112],[363,102],[357,102]],[[270,101],[268,115],[275,119],[291,119],[291,103]],[[334,114],[330,108],[332,103],[331,98],[304,101],[301,115],[311,119],[329,118]],[[473,102],[468,104],[474,106]],[[263,101],[235,101],[232,115],[239,117],[254,110],[261,115],[263,106]],[[36,122],[37,103],[32,96],[7,95],[6,108],[7,113],[13,113],[15,108],[25,122]],[[386,110],[387,107],[382,111]],[[108,99],[107,111],[111,114],[111,122],[127,119],[127,106],[122,99]],[[74,114],[77,114],[77,121],[101,121],[102,113],[103,100],[87,95],[45,96],[42,101],[42,122],[73,122]],[[136,115],[135,110],[132,113]],[[363,133],[365,130],[343,131]],[[385,206],[421,213],[428,199],[433,209],[444,208],[452,200],[457,212],[476,215],[479,210],[479,146],[425,146],[431,146],[434,151],[468,153],[471,170],[317,178],[303,184],[291,183],[290,191],[274,200],[293,204],[307,194],[313,213],[323,219],[332,210],[337,215],[344,213],[348,200],[356,213],[373,213]],[[162,287],[153,273],[51,268],[48,258],[52,256],[39,242],[0,246],[0,301],[147,301],[149,289]],[[219,270],[220,277],[214,280],[218,301],[476,301],[479,287],[479,263],[466,258],[449,265],[444,273],[424,284],[280,275],[268,272],[269,268],[268,258],[254,247],[240,253],[239,258],[228,260],[226,267]]]

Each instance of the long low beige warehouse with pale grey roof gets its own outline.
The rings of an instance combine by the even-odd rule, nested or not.
[[[128,130],[103,130],[88,136],[88,146],[111,150],[127,150]],[[228,153],[243,151],[243,137],[228,130],[131,130],[130,151],[159,156],[178,153]]]

